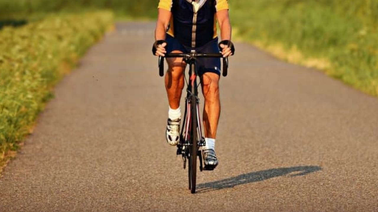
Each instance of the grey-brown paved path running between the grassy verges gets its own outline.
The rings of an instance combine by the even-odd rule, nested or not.
[[[198,193],[164,140],[153,23],[119,23],[56,87],[0,178],[0,211],[377,211],[378,99],[244,43]]]

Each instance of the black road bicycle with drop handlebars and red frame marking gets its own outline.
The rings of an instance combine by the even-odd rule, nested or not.
[[[189,65],[189,80],[188,83],[185,75],[185,81],[187,84],[186,98],[185,98],[185,112],[184,121],[181,127],[180,142],[177,144],[177,155],[181,155],[183,158],[183,167],[186,168],[186,161],[188,161],[188,180],[189,190],[191,193],[195,193],[196,177],[197,177],[197,157],[200,161],[200,171],[209,170],[206,166],[203,166],[201,146],[205,146],[205,139],[202,136],[201,118],[199,113],[199,98],[197,91],[197,62],[199,57],[212,57],[223,58],[223,55],[218,54],[203,54],[197,53],[192,50],[190,53],[171,53],[166,54],[165,57],[180,57]],[[164,76],[164,57],[159,56],[159,75]],[[223,58],[223,72],[224,77],[227,76],[228,71],[228,58]],[[195,120],[195,121],[193,121]]]

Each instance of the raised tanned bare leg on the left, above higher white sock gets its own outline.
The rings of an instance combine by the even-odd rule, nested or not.
[[[172,53],[182,53],[180,51],[172,51]],[[165,86],[168,95],[169,106],[177,109],[180,106],[181,94],[184,88],[183,71],[186,63],[182,58],[167,58],[168,71],[165,76]]]

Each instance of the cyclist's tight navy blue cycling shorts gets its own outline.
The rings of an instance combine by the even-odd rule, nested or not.
[[[217,54],[219,53],[218,38],[214,38],[203,46],[197,48],[191,48],[182,45],[176,38],[167,34],[166,36],[167,53],[172,51],[181,51],[183,53],[190,53],[191,50],[195,50],[197,53]],[[206,72],[212,72],[220,75],[220,58],[198,58],[197,59],[197,72],[198,75],[202,75]]]

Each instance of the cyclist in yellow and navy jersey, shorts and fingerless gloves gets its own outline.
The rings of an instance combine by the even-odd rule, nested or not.
[[[219,48],[217,21],[222,38]],[[218,53],[219,49],[222,49],[223,57],[228,57],[234,53],[234,46],[230,40],[231,24],[227,0],[160,0],[155,43],[152,48],[156,56],[164,56],[166,53],[189,53],[191,50],[199,53]],[[170,145],[177,145],[180,141],[180,99],[184,88],[183,70],[186,64],[182,58],[167,58],[167,63],[165,86],[169,111],[166,140]],[[220,58],[199,58],[197,65],[205,99],[204,164],[215,168],[218,165],[214,147],[220,115]]]

